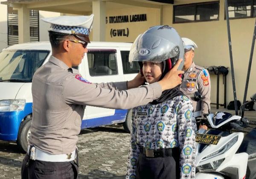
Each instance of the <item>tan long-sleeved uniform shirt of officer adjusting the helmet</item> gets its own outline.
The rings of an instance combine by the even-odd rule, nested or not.
[[[33,76],[29,144],[51,154],[70,153],[76,149],[86,105],[130,109],[145,105],[162,93],[158,83],[126,89],[126,81],[90,83],[78,70],[51,57]]]

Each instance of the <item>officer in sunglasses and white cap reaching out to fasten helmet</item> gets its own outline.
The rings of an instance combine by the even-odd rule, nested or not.
[[[145,105],[181,84],[178,75],[183,71],[177,68],[182,60],[163,80],[139,88],[134,87],[145,81],[140,73],[131,81],[93,84],[72,68],[87,52],[93,14],[42,20],[51,23],[52,56],[33,76],[33,118],[21,177],[73,179],[78,177],[76,142],[85,106],[130,109]]]

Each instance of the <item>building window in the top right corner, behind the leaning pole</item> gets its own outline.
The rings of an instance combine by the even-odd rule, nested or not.
[[[227,4],[230,19],[256,17],[256,0],[228,0]]]

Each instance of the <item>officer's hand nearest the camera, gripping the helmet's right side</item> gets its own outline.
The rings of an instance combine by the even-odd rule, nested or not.
[[[162,91],[175,88],[181,84],[182,79],[179,77],[179,74],[183,74],[184,71],[177,70],[181,62],[182,59],[178,60],[175,66],[173,66],[173,68],[168,73],[166,73],[163,79],[158,81],[162,87]]]

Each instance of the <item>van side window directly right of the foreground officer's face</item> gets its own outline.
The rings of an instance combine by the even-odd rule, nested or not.
[[[87,52],[91,76],[117,75],[116,50],[90,49]]]

